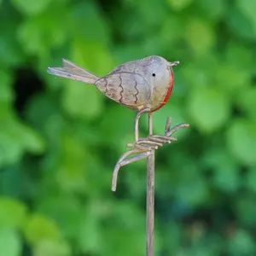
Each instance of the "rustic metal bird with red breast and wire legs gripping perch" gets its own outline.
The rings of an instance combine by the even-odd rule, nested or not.
[[[48,73],[85,84],[94,84],[108,98],[125,108],[137,111],[135,143],[127,144],[133,150],[119,159],[115,168],[119,170],[120,166],[147,157],[150,150],[157,149],[163,143],[176,140],[166,135],[153,135],[152,114],[162,108],[171,96],[174,84],[172,67],[178,64],[179,61],[169,62],[163,57],[154,55],[137,61],[125,62],[101,78],[63,59],[62,67],[49,67]],[[138,120],[143,113],[148,113],[149,134],[147,138],[139,139]],[[130,154],[138,155],[126,159]]]

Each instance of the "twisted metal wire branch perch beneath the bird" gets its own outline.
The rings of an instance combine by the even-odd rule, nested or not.
[[[153,154],[153,150],[158,149],[158,147],[162,147],[166,143],[176,142],[177,138],[172,137],[172,134],[181,128],[189,127],[189,124],[179,124],[171,128],[171,123],[172,123],[172,119],[168,118],[166,120],[165,135],[151,135],[146,138],[140,138],[138,140],[138,143],[127,144],[127,146],[132,149],[126,152],[125,154],[123,154],[119,158],[116,166],[113,169],[112,191],[116,190],[118,173],[119,173],[119,169],[122,166],[129,165],[132,162],[148,157],[150,154]],[[131,156],[130,158],[127,158],[131,154],[136,154],[136,155]]]

